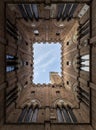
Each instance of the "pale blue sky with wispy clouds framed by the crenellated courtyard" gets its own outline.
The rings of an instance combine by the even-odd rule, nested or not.
[[[34,43],[34,75],[33,82],[50,83],[50,72],[61,74],[61,45],[60,43]]]

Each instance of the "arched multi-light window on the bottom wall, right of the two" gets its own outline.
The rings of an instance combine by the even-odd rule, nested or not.
[[[64,99],[55,101],[58,122],[77,123],[76,116],[72,110],[72,104]]]

